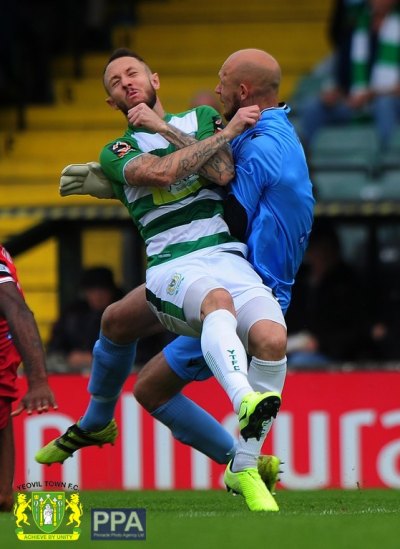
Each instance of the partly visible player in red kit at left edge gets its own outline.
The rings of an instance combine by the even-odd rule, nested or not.
[[[21,362],[28,390],[17,408],[17,369]],[[57,408],[46,373],[45,353],[32,311],[25,302],[10,254],[0,244],[0,511],[14,503],[14,436],[12,417],[26,410],[47,412]]]

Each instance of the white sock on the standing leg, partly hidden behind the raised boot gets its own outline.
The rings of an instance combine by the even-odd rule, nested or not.
[[[276,392],[281,394],[286,377],[286,357],[282,360],[260,360],[253,357],[250,362],[248,380],[253,391]],[[242,436],[236,448],[232,471],[243,471],[248,467],[257,468],[257,458],[261,453],[262,445],[271,430],[273,419],[265,426],[260,440],[249,438],[247,441]]]

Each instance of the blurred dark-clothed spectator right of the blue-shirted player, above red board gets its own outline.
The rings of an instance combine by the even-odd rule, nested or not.
[[[339,238],[315,222],[286,315],[288,364],[358,360],[369,352],[369,323],[359,277],[342,258]]]

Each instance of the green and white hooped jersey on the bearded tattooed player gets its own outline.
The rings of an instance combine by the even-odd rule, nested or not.
[[[167,114],[169,124],[205,139],[220,116],[211,107]],[[128,127],[125,135],[106,145],[100,155],[104,173],[117,198],[127,207],[146,244],[148,267],[188,253],[222,246],[245,253],[246,246],[230,235],[223,220],[223,188],[193,174],[169,187],[134,187],[126,183],[125,166],[143,153],[165,156],[176,150],[160,134]]]

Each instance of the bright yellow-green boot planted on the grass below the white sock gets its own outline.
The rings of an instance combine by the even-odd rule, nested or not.
[[[256,468],[249,467],[234,473],[230,462],[225,469],[224,482],[228,492],[244,497],[250,511],[279,511],[278,504],[267,490]]]

